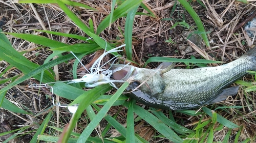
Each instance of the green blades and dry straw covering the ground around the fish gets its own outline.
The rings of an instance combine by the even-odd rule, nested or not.
[[[248,11],[242,10],[240,15],[231,19],[225,15],[225,12],[222,12],[221,17],[229,18],[229,22],[222,23],[223,27],[208,33],[206,31],[210,31],[218,23],[200,20],[203,17],[198,13],[207,12],[213,19],[217,17],[216,11],[224,9],[223,7],[227,8],[229,14],[233,14],[234,7],[225,2],[222,2],[221,7],[209,5],[208,1],[203,1],[203,4],[196,2],[189,4],[181,0],[167,4],[133,0],[112,2],[55,0],[43,3],[23,0],[18,3],[23,4],[7,6],[2,2],[4,7],[13,8],[16,12],[25,15],[24,19],[16,18],[13,27],[27,25],[15,29],[11,26],[3,26],[5,33],[0,34],[0,57],[1,64],[4,65],[1,73],[3,79],[0,81],[3,85],[0,90],[0,99],[2,108],[20,113],[26,119],[22,122],[23,127],[1,133],[2,136],[11,134],[5,142],[19,137],[20,134],[26,136],[27,129],[32,127],[33,130],[30,132],[32,135],[28,139],[30,142],[37,140],[51,142],[58,140],[61,142],[249,142],[255,140],[256,133],[250,129],[256,127],[253,112],[256,109],[255,95],[250,93],[255,91],[253,75],[237,81],[248,88],[242,87],[237,97],[230,97],[230,102],[224,101],[221,104],[209,105],[198,111],[163,111],[139,106],[132,99],[127,101],[127,97],[122,95],[122,92],[129,85],[128,81],[124,82],[115,92],[111,91],[112,87],[109,84],[102,84],[93,89],[86,89],[83,84],[79,83],[51,84],[54,94],[60,96],[60,99],[56,98],[58,102],[70,104],[70,100],[73,100],[71,104],[79,103],[77,111],[71,115],[66,109],[52,106],[51,100],[48,99],[52,98],[49,96],[51,91],[48,89],[42,88],[43,92],[38,92],[37,89],[26,88],[29,79],[31,82],[49,83],[77,78],[79,76],[77,72],[80,71],[79,63],[73,60],[74,56],[69,53],[70,51],[74,52],[79,59],[87,61],[86,63],[90,66],[93,63],[92,57],[95,56],[96,59],[97,55],[102,53],[102,49],[111,50],[123,43],[126,44],[123,52],[112,54],[114,56],[120,54],[125,61],[131,61],[137,66],[154,68],[155,65],[152,62],[182,62],[193,63],[196,66],[231,62],[243,53],[244,46],[241,46],[242,40],[239,40],[243,39],[243,33],[237,31],[238,34],[234,35],[226,27],[231,26],[234,29],[236,26],[232,25],[234,18],[241,20],[240,15],[248,14]],[[23,10],[27,10],[27,6],[36,9],[31,18],[34,19],[34,23],[31,23],[39,24],[40,29],[29,27],[29,23],[19,23],[29,21],[26,19],[27,13],[22,13]],[[245,4],[239,6],[253,9]],[[27,12],[30,13],[30,11]],[[185,16],[188,18],[182,19]],[[10,17],[9,19],[11,20]],[[174,19],[175,22],[170,19]],[[176,21],[176,19],[182,20]],[[188,26],[184,27],[178,23],[185,23]],[[193,52],[180,55],[177,52],[179,51],[177,45],[189,44],[184,40],[186,38],[181,35],[181,31],[195,29],[195,27],[202,36],[206,48],[193,47]],[[226,39],[220,34],[225,35]],[[172,40],[172,44],[164,42],[168,39]],[[208,39],[218,41],[210,43]],[[147,42],[144,43],[144,41]],[[21,49],[20,47],[23,46],[26,48]],[[151,48],[153,46],[155,49]],[[232,46],[238,48],[232,48]],[[171,52],[168,53],[168,51]],[[154,54],[155,57],[148,58],[147,54]],[[161,57],[166,54],[172,55],[171,58]],[[195,58],[177,59],[177,57],[189,58],[191,54],[199,60]],[[210,57],[222,62],[202,60],[201,57]],[[187,65],[179,64],[178,66],[184,68]],[[23,104],[27,97],[14,102],[15,99],[10,98],[12,97],[10,95],[12,89],[15,88],[18,88],[20,93],[29,91],[28,97],[33,99],[35,95],[41,94],[44,101],[38,97],[34,100],[36,102],[33,106]],[[40,104],[37,104],[38,102]],[[34,108],[36,106],[38,106],[37,110]],[[15,114],[15,117],[18,115]],[[34,118],[39,121],[28,120]]]

